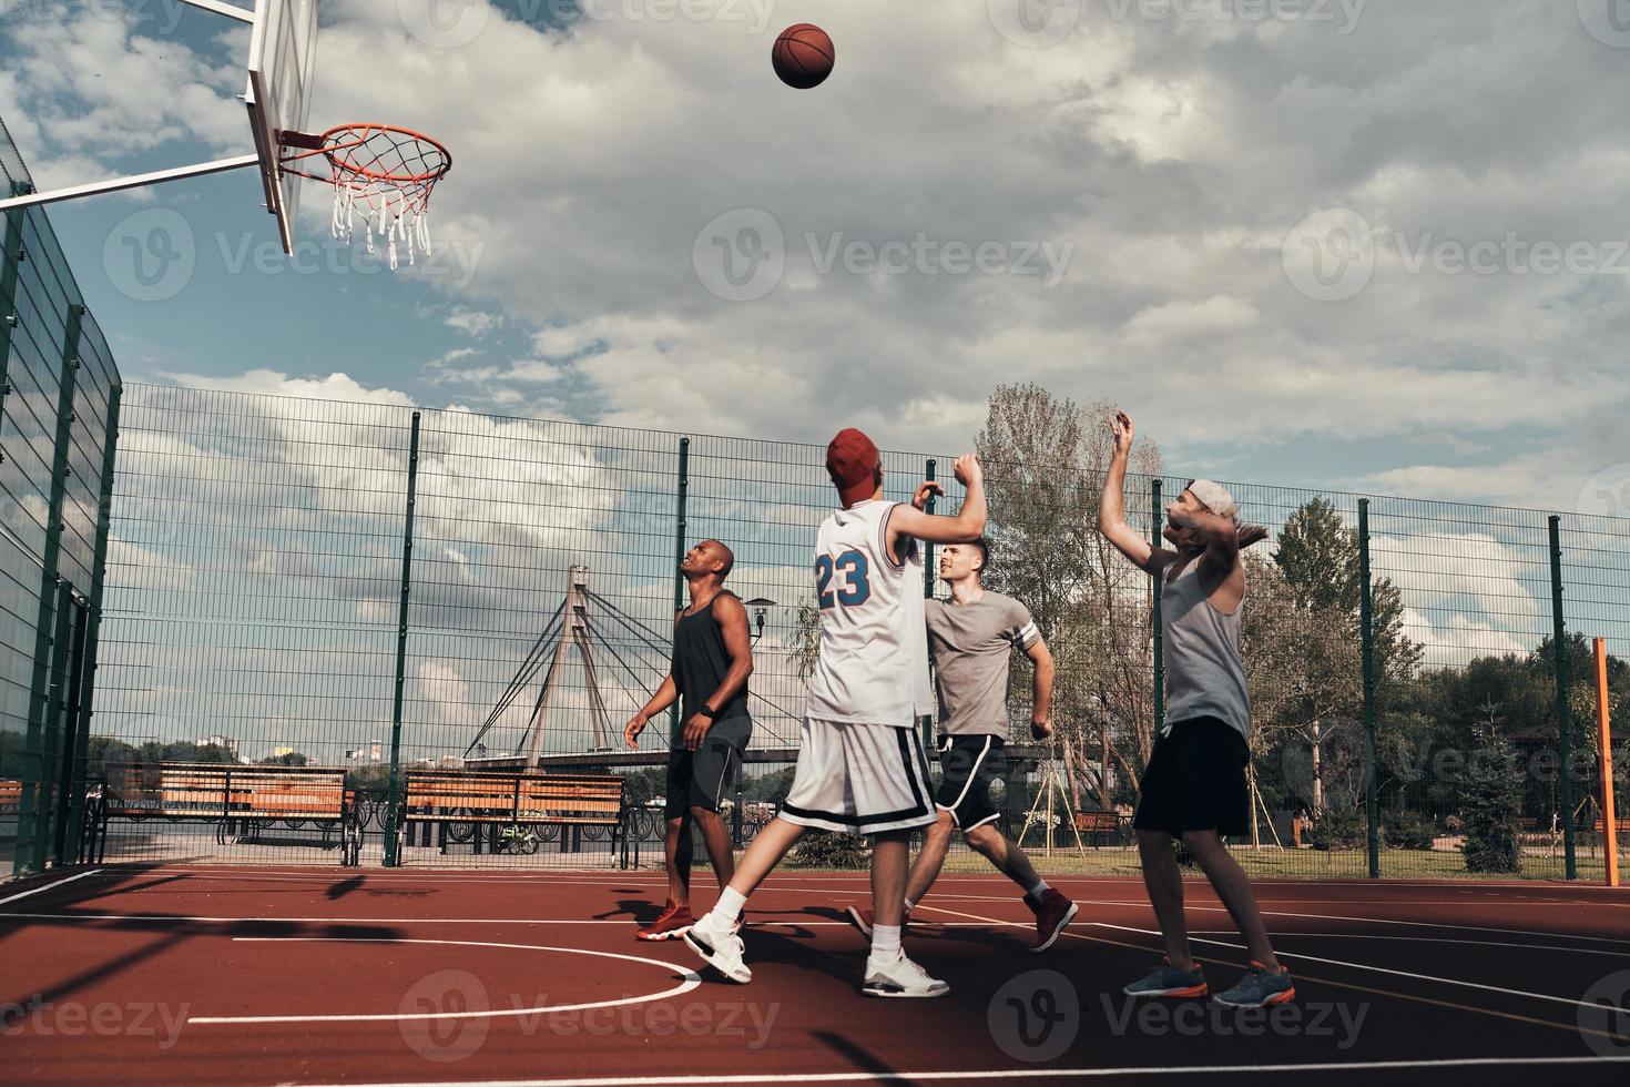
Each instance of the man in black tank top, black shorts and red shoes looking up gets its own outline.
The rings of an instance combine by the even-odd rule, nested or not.
[[[717,539],[686,552],[680,574],[691,605],[673,619],[673,662],[662,686],[623,730],[628,746],[652,717],[681,702],[678,732],[668,737],[668,823],[665,859],[668,901],[662,914],[639,931],[642,940],[683,935],[691,914],[691,823],[703,833],[707,859],[724,888],[735,875],[730,831],[719,816],[724,790],[742,772],[753,720],[747,714],[747,678],[753,673],[753,642],[747,608],[725,590],[735,556]]]

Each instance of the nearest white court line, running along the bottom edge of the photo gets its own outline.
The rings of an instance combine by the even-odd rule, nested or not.
[[[603,1076],[595,1079],[481,1079],[456,1080],[458,1087],[685,1087],[688,1084],[910,1084],[931,1080],[996,1080],[996,1079],[1105,1079],[1110,1076],[1240,1076],[1260,1072],[1386,1072],[1433,1067],[1501,1067],[1501,1066],[1573,1066],[1625,1064],[1630,1056],[1522,1056],[1522,1058],[1444,1058],[1420,1061],[1322,1061],[1317,1064],[1232,1064],[1149,1067],[1017,1067],[981,1072],[795,1072],[761,1076]],[[377,1082],[367,1087],[452,1087],[455,1080]],[[316,1087],[316,1085],[313,1085]],[[357,1087],[331,1084],[326,1087]]]

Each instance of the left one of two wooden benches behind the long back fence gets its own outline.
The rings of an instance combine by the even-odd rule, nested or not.
[[[230,763],[109,763],[101,795],[91,802],[82,856],[101,864],[112,820],[165,820],[215,825],[215,841],[259,838],[275,825],[321,834],[337,833],[341,864],[357,862],[360,826],[352,818],[355,792],[344,769],[311,766],[238,766]]]

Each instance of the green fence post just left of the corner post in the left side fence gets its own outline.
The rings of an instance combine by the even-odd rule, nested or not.
[[[28,698],[28,733],[23,746],[23,795],[16,816],[15,875],[37,872],[46,860],[49,836],[41,826],[51,820],[46,768],[46,717],[51,709],[51,652],[57,619],[57,592],[62,554],[62,504],[68,492],[68,438],[73,424],[73,386],[80,372],[80,329],[85,306],[70,305],[62,337],[62,376],[57,381],[57,440],[51,463],[51,499],[46,507],[46,546],[41,549],[39,611],[34,619],[34,671]]]

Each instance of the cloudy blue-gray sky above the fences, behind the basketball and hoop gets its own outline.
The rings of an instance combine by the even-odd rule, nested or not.
[[[248,171],[52,222],[127,380],[918,450],[1033,380],[1175,473],[1630,515],[1620,8],[324,0],[311,127],[450,145],[434,259],[313,184],[290,262]],[[0,23],[41,187],[251,150],[240,24]]]

